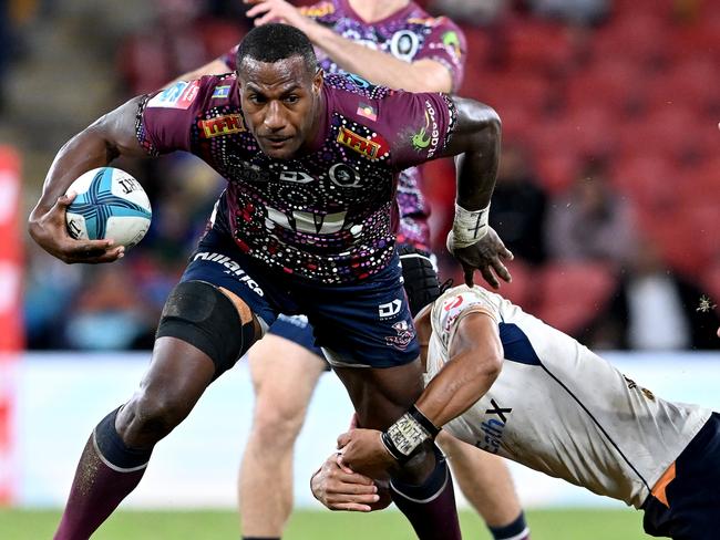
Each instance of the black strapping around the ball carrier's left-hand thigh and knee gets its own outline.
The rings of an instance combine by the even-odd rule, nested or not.
[[[184,281],[169,293],[156,338],[183,340],[207,354],[215,378],[235,365],[255,340],[253,322],[243,324],[233,301],[205,281]]]

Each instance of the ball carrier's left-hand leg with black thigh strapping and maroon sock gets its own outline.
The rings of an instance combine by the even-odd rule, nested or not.
[[[209,233],[200,249],[220,249],[214,240]],[[189,414],[207,385],[260,338],[265,323],[255,312],[272,321],[274,312],[247,280],[226,273],[224,263],[200,255],[165,303],[140,390],[91,434],[56,540],[84,540],[92,534],[137,486],[154,445]]]

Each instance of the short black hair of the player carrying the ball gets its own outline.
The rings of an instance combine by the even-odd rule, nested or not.
[[[302,58],[308,73],[315,74],[318,60],[308,37],[289,24],[271,22],[250,30],[240,41],[235,59],[239,72],[245,59],[274,63],[292,56]]]

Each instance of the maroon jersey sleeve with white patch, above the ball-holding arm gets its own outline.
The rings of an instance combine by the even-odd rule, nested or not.
[[[148,154],[191,150],[191,129],[205,102],[208,79],[178,81],[143,100],[135,132]]]

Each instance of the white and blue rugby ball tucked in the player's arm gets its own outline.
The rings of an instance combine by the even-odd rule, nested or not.
[[[143,186],[124,170],[100,167],[68,188],[78,196],[68,207],[68,233],[78,240],[112,239],[132,248],[150,228],[152,209]]]

